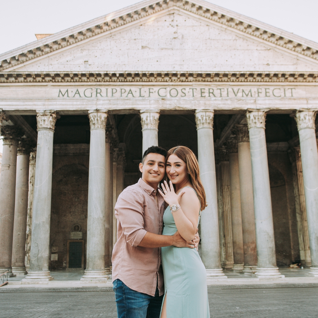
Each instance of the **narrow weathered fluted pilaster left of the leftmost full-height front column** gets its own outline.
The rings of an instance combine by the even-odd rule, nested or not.
[[[31,227],[32,227],[32,207],[34,193],[34,177],[35,177],[35,158],[36,151],[30,153],[29,159],[29,193],[28,193],[28,215],[26,218],[26,242],[25,242],[25,268],[30,268],[30,249],[31,249]]]

